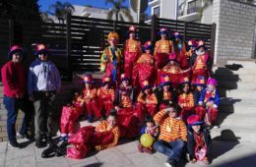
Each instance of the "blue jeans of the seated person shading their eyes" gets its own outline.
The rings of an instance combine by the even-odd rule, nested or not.
[[[183,153],[185,142],[182,139],[175,139],[167,142],[165,140],[157,140],[154,143],[154,148],[165,155],[168,159],[175,160],[177,163]]]

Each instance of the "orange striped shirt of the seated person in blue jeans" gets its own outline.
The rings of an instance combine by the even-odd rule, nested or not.
[[[154,121],[160,125],[159,139],[165,141],[173,141],[175,139],[187,140],[187,128],[182,120],[167,117],[165,110],[160,110],[155,117]]]

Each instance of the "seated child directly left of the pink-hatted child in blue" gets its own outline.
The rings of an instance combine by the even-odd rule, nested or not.
[[[199,120],[203,121],[206,114],[206,109],[198,104],[199,98],[201,96],[201,93],[203,89],[206,86],[206,81],[204,77],[198,77],[196,82],[193,83],[194,90],[193,90],[193,96],[194,96],[194,103],[195,103],[195,114],[199,115]]]

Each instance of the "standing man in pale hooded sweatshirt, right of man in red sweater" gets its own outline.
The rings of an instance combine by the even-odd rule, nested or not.
[[[29,73],[29,95],[34,105],[35,146],[42,147],[45,139],[51,141],[51,113],[56,93],[60,91],[61,81],[56,66],[48,60],[48,49],[43,44],[36,45],[35,55],[38,56]]]

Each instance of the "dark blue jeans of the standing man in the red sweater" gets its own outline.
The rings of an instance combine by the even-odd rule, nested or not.
[[[17,120],[17,115],[19,109],[21,109],[24,113],[24,119],[22,128],[20,130],[21,135],[25,135],[28,132],[28,126],[30,124],[30,114],[28,113],[24,99],[18,99],[13,97],[8,97],[4,95],[3,103],[7,110],[7,135],[10,142],[17,142],[16,140],[16,129],[15,124]]]

